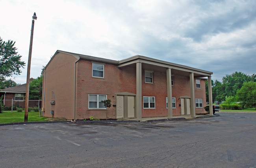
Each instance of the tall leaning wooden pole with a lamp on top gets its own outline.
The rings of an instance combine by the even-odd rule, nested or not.
[[[31,55],[32,55],[32,43],[33,43],[33,32],[34,32],[34,23],[37,20],[37,16],[32,16],[32,27],[31,27],[31,35],[30,35],[30,46],[28,53],[28,70],[27,70],[27,84],[26,84],[26,99],[25,99],[25,115],[24,122],[28,122],[28,97],[29,97],[29,82],[30,82],[30,64],[31,64]]]

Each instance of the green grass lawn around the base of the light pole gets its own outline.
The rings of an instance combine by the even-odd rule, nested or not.
[[[3,113],[0,113],[0,124],[11,122],[24,122],[24,113],[25,111],[3,111]],[[46,118],[48,117],[39,117],[39,112],[28,112],[28,122],[47,121],[45,120]]]

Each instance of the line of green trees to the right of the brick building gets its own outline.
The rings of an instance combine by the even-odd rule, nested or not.
[[[225,104],[241,104],[242,108],[256,107],[256,75],[234,72],[226,75],[222,81],[211,80],[213,102]],[[206,81],[206,101],[208,97],[208,81]]]

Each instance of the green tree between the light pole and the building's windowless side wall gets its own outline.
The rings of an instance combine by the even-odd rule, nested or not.
[[[43,87],[43,76],[37,77],[32,80],[29,85],[29,99],[30,100],[42,100],[42,87]]]

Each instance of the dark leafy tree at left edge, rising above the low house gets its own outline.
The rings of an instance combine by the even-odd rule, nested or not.
[[[3,81],[6,77],[20,75],[20,68],[24,68],[24,61],[20,61],[21,55],[17,55],[17,48],[14,47],[15,42],[8,40],[3,41],[0,37],[0,80]]]

